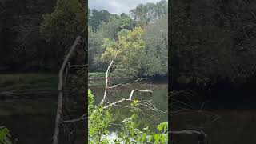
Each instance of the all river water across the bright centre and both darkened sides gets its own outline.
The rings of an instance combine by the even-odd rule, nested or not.
[[[110,101],[127,98],[130,90],[153,90],[153,96],[135,94],[134,98],[152,100],[159,110],[167,110],[167,85],[147,84],[129,86],[118,89],[111,94]],[[90,86],[94,93],[95,102],[102,99],[104,86]],[[0,126],[6,126],[12,134],[12,139],[18,138],[18,144],[46,144],[51,142],[54,131],[56,100],[42,102],[0,102]],[[142,127],[154,129],[160,122],[167,120],[167,114],[158,114],[153,110],[139,114]],[[114,123],[118,124],[123,118],[129,117],[127,108],[114,107]],[[217,117],[217,116],[218,117]],[[203,130],[207,134],[208,144],[255,144],[256,143],[256,110],[218,109],[206,111],[186,111],[173,114],[170,117],[171,130]],[[110,126],[110,138],[115,138],[119,127]],[[193,134],[172,135],[176,144],[198,144],[198,136]],[[76,143],[86,143],[83,136]]]

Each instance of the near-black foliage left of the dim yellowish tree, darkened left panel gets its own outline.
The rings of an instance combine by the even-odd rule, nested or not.
[[[52,0],[10,0],[0,2],[0,70],[56,70],[58,51],[39,33],[42,14],[54,10]]]

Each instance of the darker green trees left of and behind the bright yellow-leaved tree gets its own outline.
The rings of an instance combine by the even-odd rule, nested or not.
[[[100,60],[101,54],[104,52],[103,39],[117,40],[120,30],[132,30],[134,26],[134,20],[127,14],[111,14],[110,19],[107,22],[102,22],[97,30],[93,30],[92,26],[89,26],[90,70],[106,69],[106,65]]]

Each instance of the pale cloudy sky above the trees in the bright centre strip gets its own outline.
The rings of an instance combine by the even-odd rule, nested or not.
[[[130,10],[139,3],[159,2],[161,0],[89,0],[89,8],[97,10],[108,10],[113,14],[128,14]]]

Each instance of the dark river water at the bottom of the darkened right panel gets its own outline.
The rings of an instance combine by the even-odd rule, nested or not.
[[[218,119],[213,114],[218,114]],[[216,110],[176,114],[170,120],[172,130],[202,130],[207,144],[255,144],[256,110]],[[198,135],[173,135],[178,144],[198,144]]]

